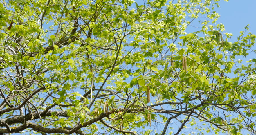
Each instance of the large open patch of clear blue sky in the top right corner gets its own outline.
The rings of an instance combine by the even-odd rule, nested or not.
[[[233,34],[231,42],[237,40],[239,32],[244,31],[247,24],[250,24],[249,30],[256,35],[256,0],[221,0],[219,5],[219,8],[215,8],[220,15],[217,23],[224,24],[226,32]]]

